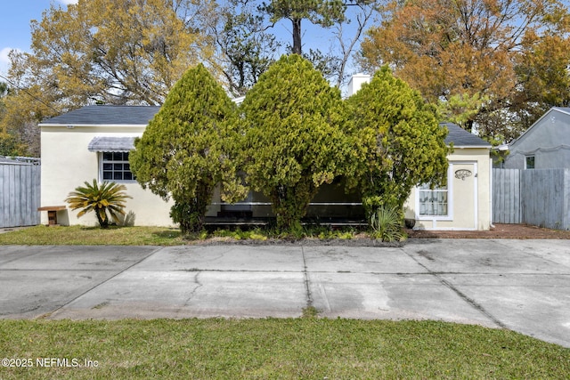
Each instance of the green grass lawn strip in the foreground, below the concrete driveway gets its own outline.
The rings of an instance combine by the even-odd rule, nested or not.
[[[570,349],[508,330],[436,321],[0,320],[0,330],[0,357],[32,363],[0,367],[2,379],[570,376]],[[47,360],[53,367],[40,367],[45,358],[60,364]],[[92,366],[85,368],[85,360]]]

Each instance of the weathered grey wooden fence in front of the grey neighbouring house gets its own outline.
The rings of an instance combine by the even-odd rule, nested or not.
[[[570,230],[570,169],[493,169],[493,222]]]

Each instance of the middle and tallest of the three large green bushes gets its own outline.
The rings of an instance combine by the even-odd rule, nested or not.
[[[279,228],[296,230],[319,187],[350,166],[340,92],[291,54],[259,78],[240,110],[248,184],[271,199]]]

